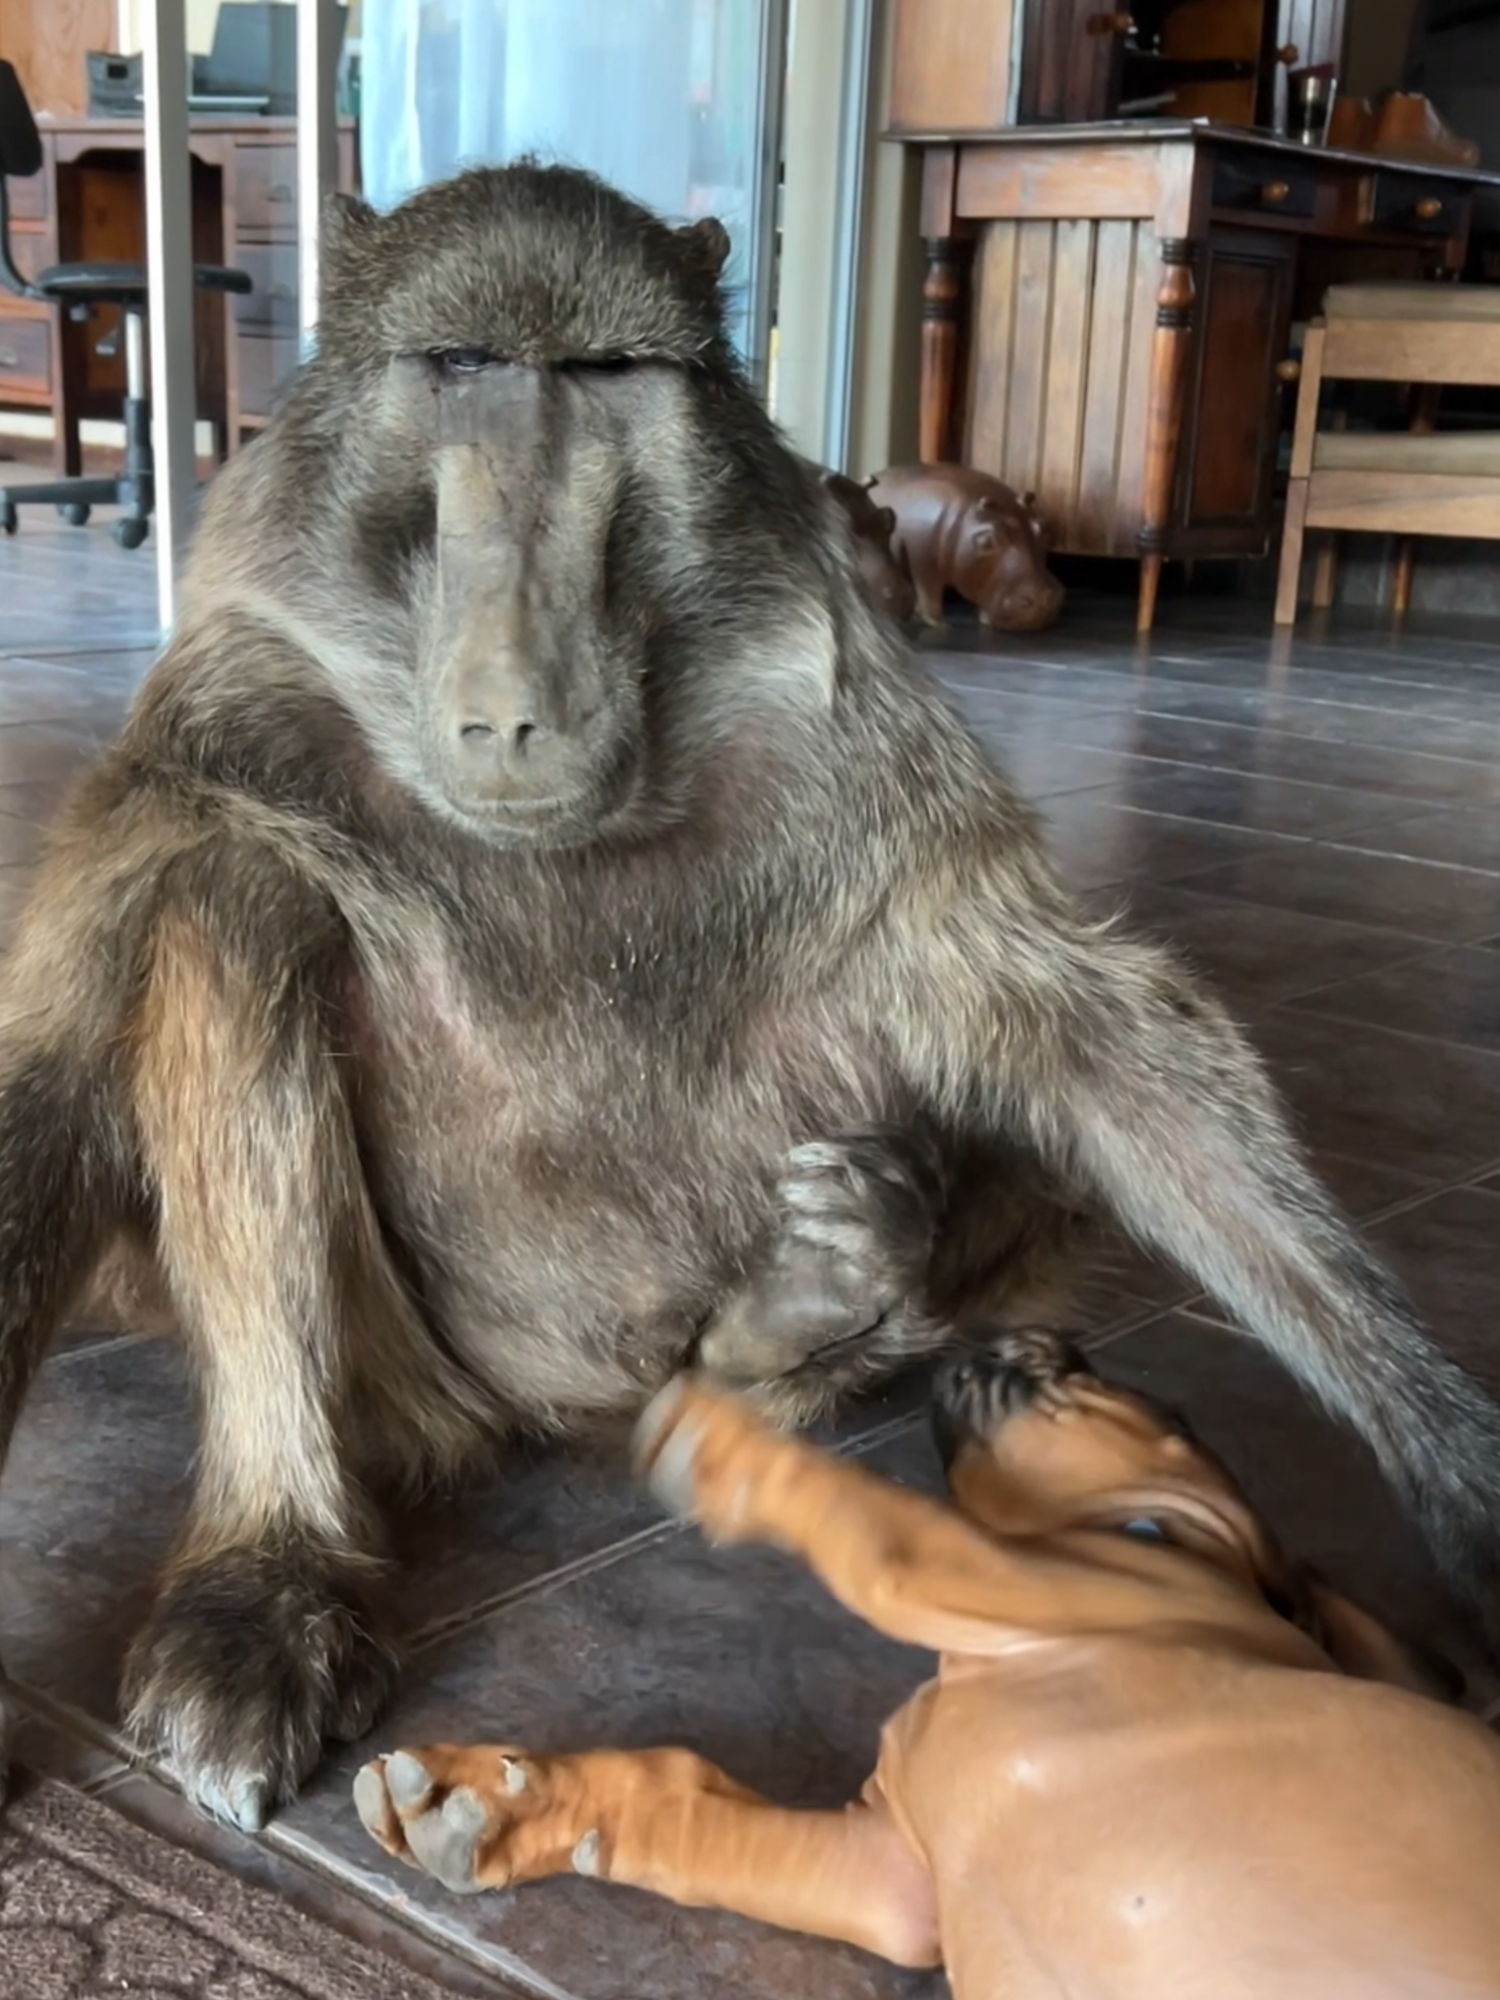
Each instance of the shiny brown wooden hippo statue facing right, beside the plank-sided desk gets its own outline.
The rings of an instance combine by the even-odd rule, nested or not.
[[[1032,496],[972,466],[890,466],[870,502],[896,516],[892,548],[916,590],[916,614],[942,624],[942,594],[978,606],[994,632],[1042,632],[1062,608],[1062,584],[1046,566]]]

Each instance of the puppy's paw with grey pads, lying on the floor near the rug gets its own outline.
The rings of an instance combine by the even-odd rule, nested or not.
[[[500,1744],[430,1744],[374,1758],[354,1810],[386,1854],[460,1896],[604,1872],[604,1814],[578,1760]]]

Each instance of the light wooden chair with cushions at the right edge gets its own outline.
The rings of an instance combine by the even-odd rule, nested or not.
[[[1318,430],[1324,380],[1414,388],[1408,430]],[[1500,286],[1334,284],[1308,326],[1292,436],[1276,624],[1296,620],[1302,538],[1326,534],[1312,602],[1334,600],[1334,532],[1400,536],[1392,610],[1412,594],[1412,536],[1500,540],[1500,428],[1436,432],[1444,384],[1500,388]]]

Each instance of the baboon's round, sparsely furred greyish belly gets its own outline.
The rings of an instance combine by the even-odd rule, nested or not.
[[[504,1372],[596,1350],[612,1386],[574,1376],[570,1400],[680,1354],[786,1150],[882,1110],[816,1002],[652,1020],[588,980],[516,1006],[436,950],[356,980],[350,1040],[366,1172],[428,1308]]]

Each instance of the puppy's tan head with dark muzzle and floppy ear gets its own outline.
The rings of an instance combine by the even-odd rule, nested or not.
[[[1304,1630],[1346,1674],[1442,1700],[1448,1662],[1418,1658],[1292,1562],[1186,1418],[1106,1384],[1046,1330],[960,1336],[932,1384],[932,1430],[954,1504],[992,1534],[1114,1528],[1188,1550]]]

